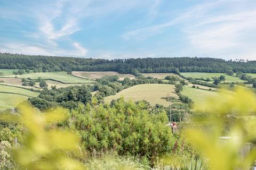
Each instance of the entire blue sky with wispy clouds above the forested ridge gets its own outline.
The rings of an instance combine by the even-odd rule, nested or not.
[[[0,0],[0,52],[256,60],[256,0]]]

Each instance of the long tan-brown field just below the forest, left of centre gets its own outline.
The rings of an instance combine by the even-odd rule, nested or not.
[[[73,71],[73,75],[85,79],[96,80],[102,78],[105,75],[117,75],[119,80],[123,80],[124,78],[129,77],[130,79],[134,79],[134,75],[132,74],[120,74],[115,71]]]

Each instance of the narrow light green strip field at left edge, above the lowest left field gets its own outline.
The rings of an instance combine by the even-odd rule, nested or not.
[[[38,93],[34,92],[34,91],[21,89],[21,88],[18,88],[18,87],[4,86],[4,85],[0,85],[0,92],[13,92],[13,93],[16,93],[16,94],[21,94],[21,95],[26,95],[26,96],[31,96],[31,97],[37,97],[38,96]],[[0,95],[3,95],[3,94],[0,93]],[[15,100],[15,98],[13,98],[12,100]]]

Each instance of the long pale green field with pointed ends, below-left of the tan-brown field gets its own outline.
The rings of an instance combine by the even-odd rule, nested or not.
[[[38,73],[29,73],[29,74],[22,74],[22,75],[6,75],[5,77],[15,77],[18,78],[31,78],[37,79],[41,77],[41,79],[53,79],[57,81],[61,81],[64,83],[93,83],[92,80],[86,80],[82,78],[74,77],[73,75],[67,74],[67,72],[38,72]]]

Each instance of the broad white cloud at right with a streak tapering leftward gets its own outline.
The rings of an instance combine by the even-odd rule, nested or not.
[[[198,4],[178,11],[177,17],[162,24],[125,32],[122,38],[148,41],[176,28],[183,39],[183,52],[175,54],[255,60],[256,7],[245,3],[227,0]]]

